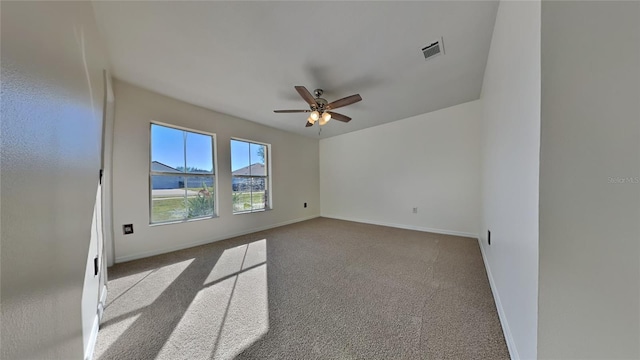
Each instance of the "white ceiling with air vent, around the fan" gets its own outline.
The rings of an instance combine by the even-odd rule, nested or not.
[[[218,112],[318,137],[295,85],[338,110],[321,138],[480,96],[497,2],[95,1],[114,76]],[[421,48],[444,38],[445,55]],[[213,121],[213,119],[212,119]]]

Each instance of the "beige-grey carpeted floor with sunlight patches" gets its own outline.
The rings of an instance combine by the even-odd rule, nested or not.
[[[109,269],[95,359],[508,359],[477,240],[318,218]]]

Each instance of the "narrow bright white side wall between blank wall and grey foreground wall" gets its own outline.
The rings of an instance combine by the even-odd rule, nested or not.
[[[481,249],[511,356],[533,359],[538,306],[540,1],[500,3],[481,100]]]

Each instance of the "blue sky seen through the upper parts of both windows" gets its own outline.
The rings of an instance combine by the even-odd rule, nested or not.
[[[184,166],[184,140],[187,142],[187,167],[211,171],[211,137],[156,124],[151,125],[151,161],[173,168]],[[231,171],[262,162],[258,149],[263,145],[231,140]]]

